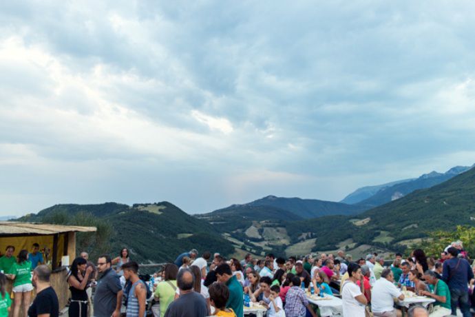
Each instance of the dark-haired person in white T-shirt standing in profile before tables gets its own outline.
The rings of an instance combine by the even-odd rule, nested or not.
[[[357,285],[358,280],[361,286]],[[356,263],[348,265],[348,280],[343,285],[341,300],[343,301],[343,316],[365,316],[365,305],[368,304],[368,300],[364,296],[364,281],[361,268]]]

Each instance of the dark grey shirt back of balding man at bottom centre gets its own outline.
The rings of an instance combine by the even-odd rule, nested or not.
[[[197,292],[181,294],[165,312],[165,317],[204,317],[207,315],[206,300]]]

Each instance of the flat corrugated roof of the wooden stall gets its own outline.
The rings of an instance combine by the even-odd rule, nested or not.
[[[76,225],[50,225],[48,223],[18,223],[0,221],[0,236],[8,234],[61,234],[63,232],[96,232],[96,227]]]

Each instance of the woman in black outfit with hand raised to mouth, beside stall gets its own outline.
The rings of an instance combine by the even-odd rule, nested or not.
[[[85,258],[75,258],[72,261],[67,284],[70,285],[71,303],[67,314],[70,317],[87,317],[87,280],[92,274],[92,267],[87,267]]]

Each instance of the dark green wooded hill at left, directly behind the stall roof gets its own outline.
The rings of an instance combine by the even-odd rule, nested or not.
[[[129,248],[131,257],[139,263],[171,261],[189,249],[198,252],[219,250],[234,252],[233,246],[207,221],[183,212],[175,205],[162,202],[135,204],[132,207],[117,203],[98,205],[55,205],[20,221],[47,222],[48,219],[86,212],[103,219],[113,227],[112,255],[122,247]]]

